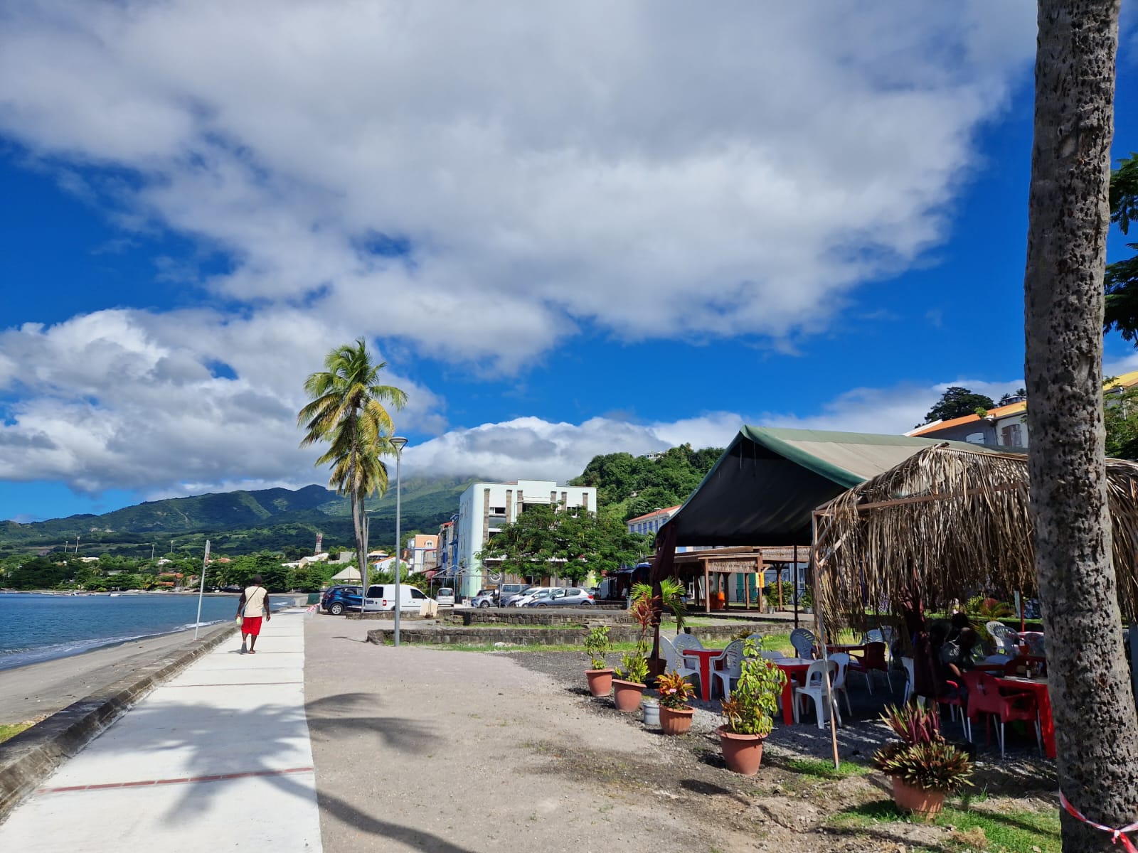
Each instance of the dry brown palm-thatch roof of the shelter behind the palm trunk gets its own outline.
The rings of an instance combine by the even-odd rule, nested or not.
[[[1119,603],[1138,615],[1138,464],[1106,461]],[[925,448],[818,510],[822,607],[831,622],[916,580],[926,606],[978,591],[1038,594],[1028,459]]]

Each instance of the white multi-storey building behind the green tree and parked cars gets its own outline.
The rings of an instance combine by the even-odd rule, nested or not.
[[[490,582],[475,556],[489,540],[529,506],[546,504],[583,507],[596,512],[596,489],[591,486],[558,486],[553,480],[476,482],[459,498],[457,569],[460,595],[472,596]]]

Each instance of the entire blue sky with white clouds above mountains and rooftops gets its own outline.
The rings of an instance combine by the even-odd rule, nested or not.
[[[358,336],[421,473],[1022,383],[1031,3],[125,8],[0,27],[0,519],[322,482],[300,386]]]

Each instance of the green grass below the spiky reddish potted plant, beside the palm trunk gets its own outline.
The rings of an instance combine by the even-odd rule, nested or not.
[[[909,822],[889,800],[877,800],[831,815],[833,826],[872,829],[879,823]],[[1059,817],[1056,812],[996,811],[945,806],[935,826],[953,827],[945,838],[950,851],[983,848],[987,853],[1062,853]]]

